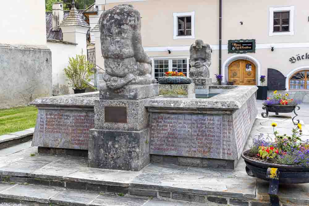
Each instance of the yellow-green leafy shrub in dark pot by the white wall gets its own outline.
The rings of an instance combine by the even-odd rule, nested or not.
[[[64,69],[64,73],[69,80],[69,85],[73,87],[74,94],[86,91],[86,82],[90,82],[89,76],[93,74],[92,68],[93,64],[87,61],[86,55],[69,58],[69,65]]]

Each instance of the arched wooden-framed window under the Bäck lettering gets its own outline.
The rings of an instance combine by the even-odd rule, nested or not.
[[[299,71],[290,78],[290,89],[309,89],[309,70]]]

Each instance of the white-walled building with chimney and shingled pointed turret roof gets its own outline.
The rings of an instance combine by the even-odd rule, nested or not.
[[[82,53],[87,55],[90,26],[83,11],[75,6],[70,11],[64,11],[63,2],[58,2],[53,4],[52,12],[46,12],[47,47],[52,51],[53,95],[73,93],[63,69],[68,66],[69,57]]]

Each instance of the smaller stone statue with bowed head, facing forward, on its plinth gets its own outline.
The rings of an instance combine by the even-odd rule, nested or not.
[[[211,48],[203,40],[196,40],[190,47],[190,78],[196,86],[211,85],[209,66],[211,65]]]

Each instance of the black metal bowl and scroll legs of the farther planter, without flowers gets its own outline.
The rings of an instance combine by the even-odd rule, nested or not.
[[[296,108],[297,108],[297,110],[300,110],[300,107],[297,106],[297,104],[294,104],[294,105],[280,105],[280,104],[268,105],[268,104],[263,103],[262,109],[265,109],[266,113],[262,112],[261,115],[262,115],[262,117],[266,118],[266,117],[268,117],[269,112],[274,112],[276,115],[279,115],[279,113],[290,113],[290,112],[294,111],[295,116],[293,117],[292,121],[293,121],[294,124],[298,124],[299,120],[297,120],[297,123],[294,122],[294,118],[296,116],[298,116],[298,114],[296,114],[296,111],[295,111]]]

